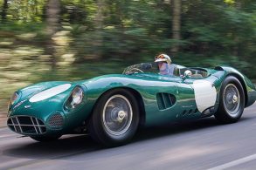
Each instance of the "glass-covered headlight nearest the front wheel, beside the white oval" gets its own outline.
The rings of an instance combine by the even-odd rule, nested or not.
[[[82,103],[84,99],[84,91],[80,86],[77,86],[73,89],[70,97],[66,101],[66,108],[74,109]]]

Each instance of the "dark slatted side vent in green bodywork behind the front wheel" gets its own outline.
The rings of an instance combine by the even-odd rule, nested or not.
[[[176,102],[174,95],[164,92],[157,93],[156,100],[159,110],[168,109]]]

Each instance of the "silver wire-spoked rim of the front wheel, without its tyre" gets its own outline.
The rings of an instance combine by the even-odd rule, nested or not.
[[[107,132],[114,135],[126,133],[133,119],[133,110],[129,100],[120,94],[107,100],[102,114]]]

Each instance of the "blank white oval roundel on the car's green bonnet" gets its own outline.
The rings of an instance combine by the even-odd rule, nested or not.
[[[58,85],[58,86],[52,87],[43,92],[38,92],[37,94],[31,97],[30,102],[33,103],[33,102],[42,101],[44,99],[52,98],[53,96],[61,92],[65,92],[70,87],[71,87],[71,84],[64,84],[64,85]]]

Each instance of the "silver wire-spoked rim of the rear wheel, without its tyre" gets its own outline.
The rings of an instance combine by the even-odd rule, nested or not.
[[[238,116],[240,106],[240,94],[239,89],[237,88],[236,85],[226,85],[224,91],[224,104],[225,110],[229,113],[230,116]]]

